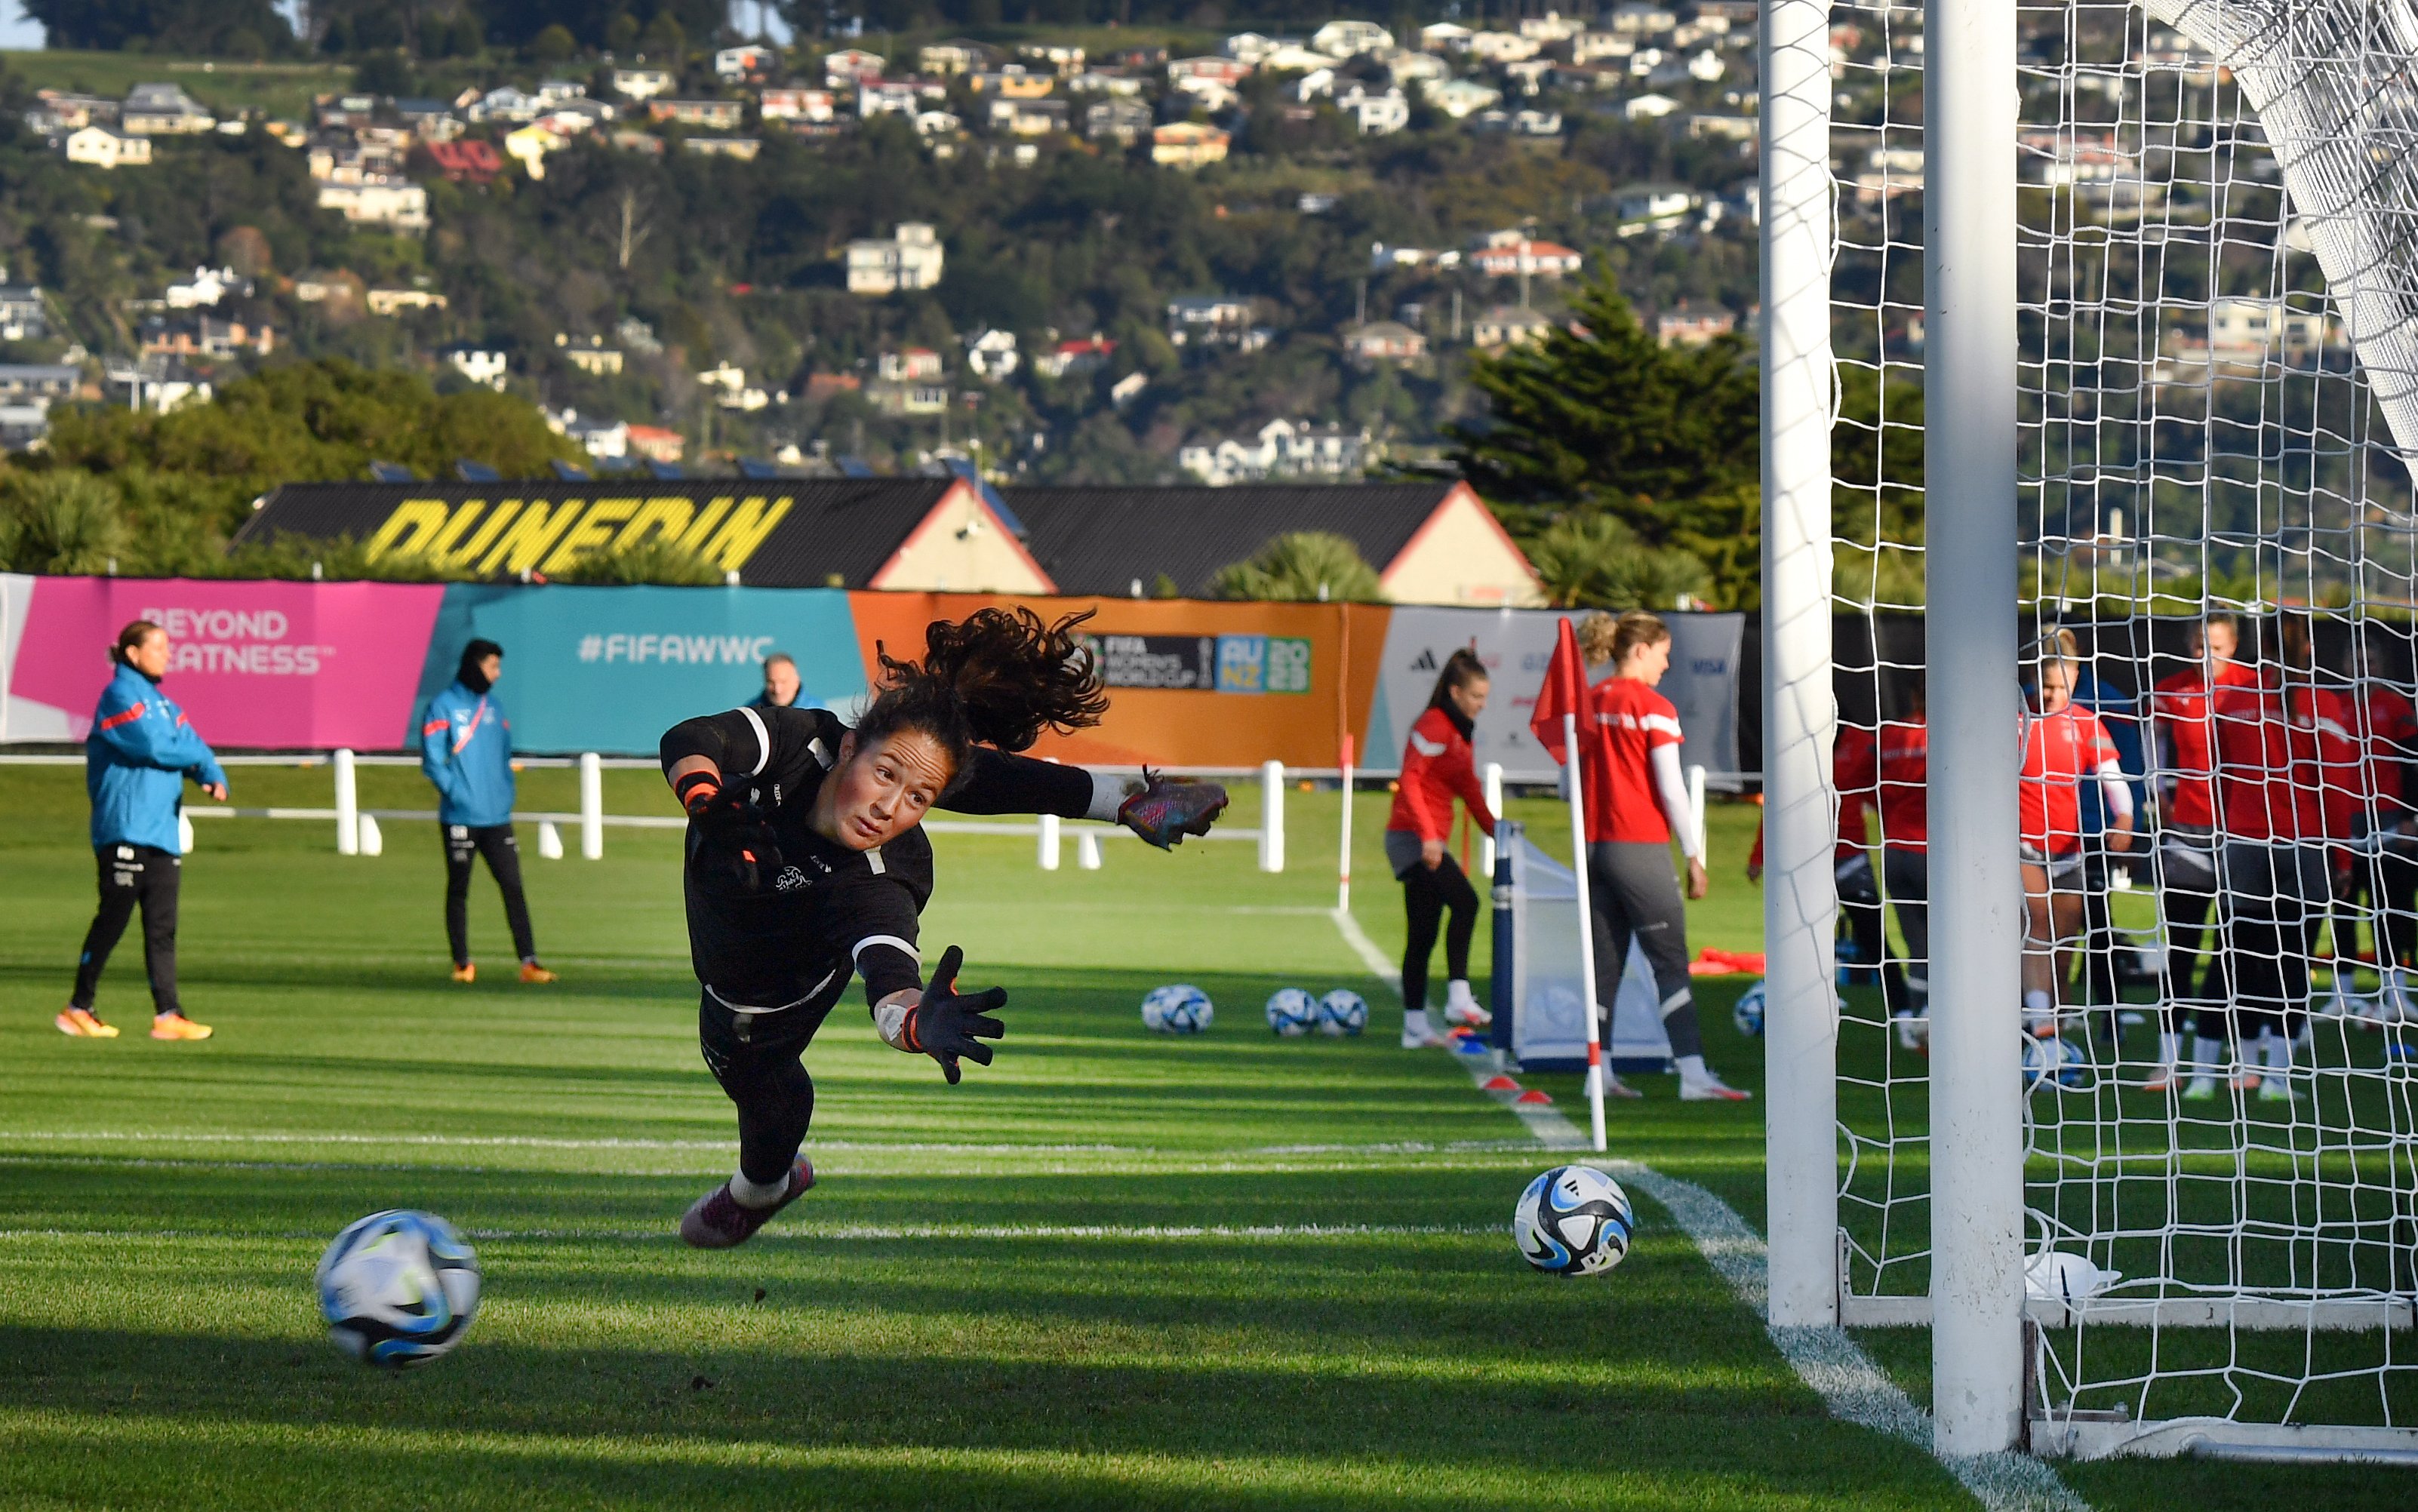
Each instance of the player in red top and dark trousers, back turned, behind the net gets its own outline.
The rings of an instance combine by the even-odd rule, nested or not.
[[[2343,699],[2314,682],[2309,622],[2285,617],[2278,644],[2275,675],[2217,689],[2210,714],[2225,837],[2220,927],[2249,1062],[2241,1086],[2258,1086],[2266,1101],[2292,1101],[2292,1033],[2309,1002],[2309,951],[2331,898],[2331,849],[2350,827],[2345,774],[2358,772],[2358,748]],[[2196,1050],[2193,1062],[2183,1096],[2212,1098],[2212,1057]]]

